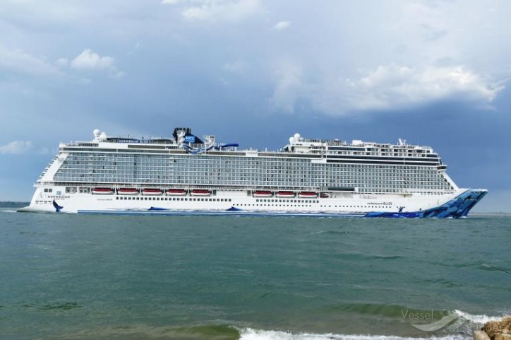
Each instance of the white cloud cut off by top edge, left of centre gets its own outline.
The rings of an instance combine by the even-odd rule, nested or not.
[[[163,0],[162,4],[183,4],[181,16],[188,21],[239,22],[262,9],[260,0]]]

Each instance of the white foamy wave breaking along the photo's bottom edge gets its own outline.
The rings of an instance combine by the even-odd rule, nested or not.
[[[471,336],[452,334],[447,336],[407,337],[393,335],[359,335],[359,334],[314,334],[291,333],[282,331],[265,331],[261,329],[240,329],[239,340],[468,340]]]

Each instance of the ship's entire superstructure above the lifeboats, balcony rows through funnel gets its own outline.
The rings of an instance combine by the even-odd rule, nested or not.
[[[189,129],[174,139],[109,137],[61,143],[38,182],[244,189],[349,188],[359,192],[443,192],[455,188],[428,146],[302,139],[278,151],[239,149]]]

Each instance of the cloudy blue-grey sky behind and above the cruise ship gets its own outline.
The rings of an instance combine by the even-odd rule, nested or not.
[[[432,146],[474,211],[511,212],[511,2],[0,0],[0,200],[59,142],[170,136],[242,148],[296,132]]]

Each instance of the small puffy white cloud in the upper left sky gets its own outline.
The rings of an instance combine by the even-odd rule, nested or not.
[[[67,65],[67,59],[61,58],[57,63]],[[126,76],[126,72],[119,71],[116,66],[114,57],[104,56],[93,52],[92,49],[84,49],[73,60],[69,62],[69,66],[78,71],[107,71],[112,78],[122,78]]]

